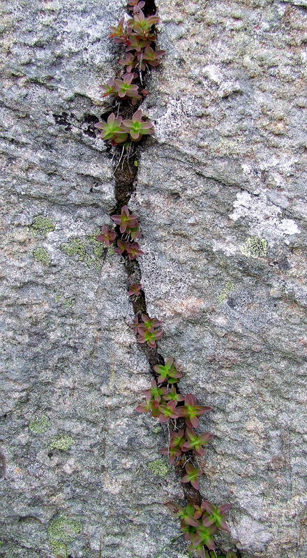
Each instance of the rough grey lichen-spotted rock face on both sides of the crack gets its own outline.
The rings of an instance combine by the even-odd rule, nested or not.
[[[243,558],[305,558],[306,2],[157,3],[131,211],[159,351],[214,412],[201,492],[232,502]],[[136,415],[149,364],[93,124],[117,72],[119,0],[1,3],[1,557],[154,558],[179,534],[163,432]],[[181,538],[163,557],[187,557]]]

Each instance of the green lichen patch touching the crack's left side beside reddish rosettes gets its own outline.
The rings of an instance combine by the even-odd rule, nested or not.
[[[100,229],[95,229],[84,240],[79,238],[70,239],[69,242],[61,244],[61,250],[69,257],[77,256],[79,262],[83,262],[100,273],[106,250],[103,242],[96,241],[96,236],[100,232]]]

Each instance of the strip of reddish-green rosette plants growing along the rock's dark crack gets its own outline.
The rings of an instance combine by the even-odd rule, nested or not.
[[[143,80],[150,68],[158,66],[165,51],[158,50],[155,45],[155,25],[160,21],[159,17],[156,14],[144,15],[143,8],[147,14],[145,1],[128,0],[130,11],[128,22],[125,22],[123,17],[117,25],[110,28],[109,37],[115,43],[122,45],[125,52],[119,59],[121,66],[119,77],[111,78],[106,84],[101,85],[100,91],[103,98],[112,96],[117,99],[116,107],[112,107],[117,115],[111,112],[107,121],[100,121],[95,126],[100,130],[103,141],[110,142],[114,148],[121,147],[121,156],[114,175],[121,160],[121,169],[127,160],[130,171],[129,158],[131,155],[135,156],[137,152],[135,146],[144,136],[154,133],[153,124],[144,119],[140,109],[142,99],[149,93],[143,86]],[[124,101],[123,105],[122,101]],[[121,111],[123,107],[124,111]],[[126,155],[123,155],[125,150]],[[117,150],[114,149],[113,153],[117,153]],[[137,160],[134,161],[134,165],[137,168]],[[133,175],[130,171],[130,176],[135,177],[136,174]],[[111,246],[115,239],[117,240],[114,251],[123,257],[123,264],[130,274],[128,296],[133,302],[135,320],[129,326],[137,336],[137,342],[144,348],[145,354],[151,355],[148,359],[155,379],[151,382],[151,388],[144,391],[145,400],[137,406],[136,411],[140,414],[151,413],[160,423],[167,425],[169,443],[161,451],[167,455],[170,464],[174,465],[179,472],[188,499],[186,507],[172,502],[168,505],[174,515],[181,520],[182,534],[190,544],[189,555],[191,556],[190,553],[195,551],[201,558],[212,558],[213,555],[216,557],[214,534],[218,529],[224,531],[228,529],[225,513],[230,508],[230,504],[216,507],[207,500],[202,500],[199,492],[199,478],[203,471],[198,467],[197,459],[204,455],[204,447],[211,442],[214,435],[210,432],[198,434],[194,429],[198,427],[200,417],[212,409],[198,405],[192,393],[181,395],[178,384],[182,373],[177,370],[172,357],[164,361],[157,353],[157,342],[163,336],[163,331],[159,329],[161,322],[147,315],[144,292],[140,296],[142,284],[131,284],[130,281],[132,275],[133,280],[140,280],[137,257],[144,255],[144,252],[137,243],[137,239],[141,236],[138,218],[130,213],[127,205],[127,200],[133,191],[132,179],[131,190],[126,186],[125,188],[125,195],[120,197],[119,194],[117,197],[117,207],[121,208],[119,209],[121,213],[111,216],[117,225],[116,232],[107,229],[104,225],[102,233],[96,236],[96,240],[104,242],[106,247]],[[134,273],[131,273],[131,269]],[[229,551],[226,556],[233,558],[232,551]]]

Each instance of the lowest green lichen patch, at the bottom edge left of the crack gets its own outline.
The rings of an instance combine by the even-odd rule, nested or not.
[[[55,555],[68,555],[67,546],[73,541],[80,533],[82,523],[66,515],[59,515],[50,521],[48,527],[49,541]]]

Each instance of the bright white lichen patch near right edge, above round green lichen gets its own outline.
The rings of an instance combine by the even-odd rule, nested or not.
[[[244,191],[237,193],[230,219],[247,219],[250,234],[265,236],[269,243],[274,243],[280,238],[286,240],[287,236],[300,232],[293,219],[284,219],[281,215],[280,207],[270,202],[264,192],[255,196]]]

